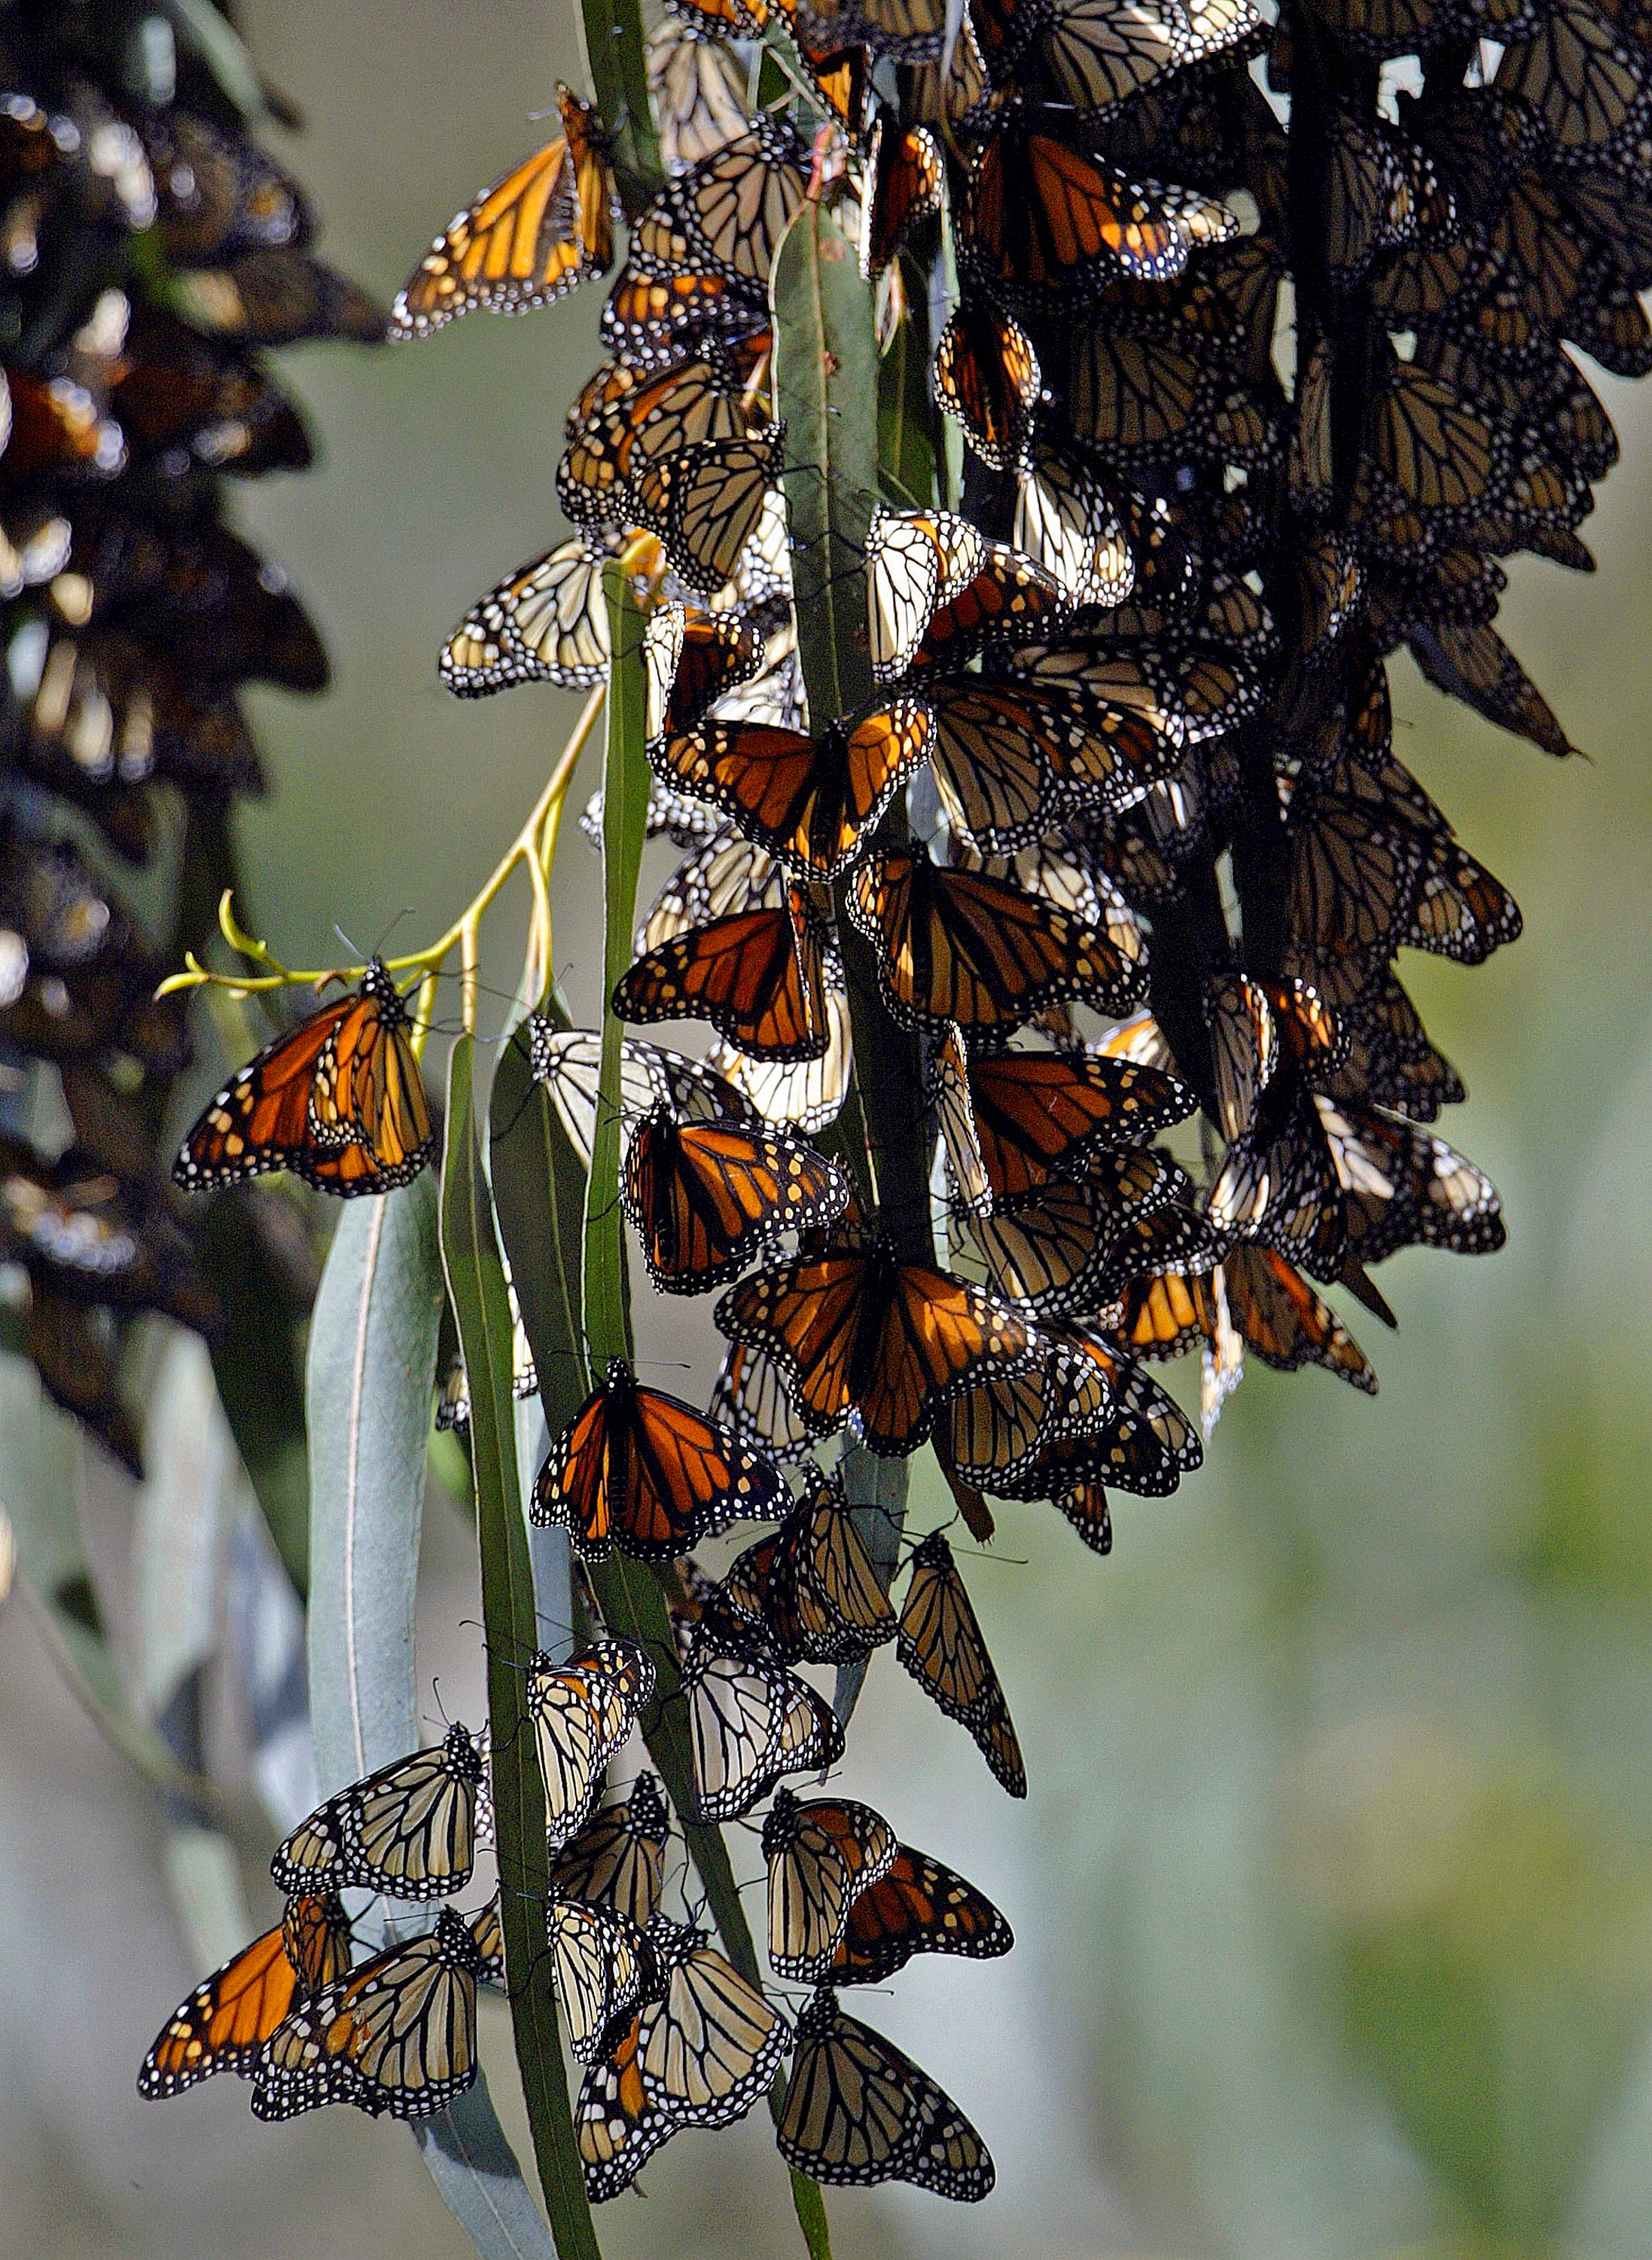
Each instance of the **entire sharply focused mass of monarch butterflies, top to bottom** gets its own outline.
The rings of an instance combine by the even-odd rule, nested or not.
[[[1503,1241],[1496,1189],[1433,1128],[1464,1092],[1394,965],[1480,963],[1519,909],[1394,757],[1388,658],[1571,750],[1496,635],[1501,560],[1589,565],[1616,441],[1568,346],[1652,366],[1650,72],[1652,32],[1609,0],[1288,0],[1272,20],[1252,0],[967,0],[960,20],[671,0],[651,38],[667,179],[628,208],[610,359],[567,414],[579,531],[441,655],[463,696],[601,683],[624,558],[649,612],[649,829],[682,861],[610,1010],[716,1037],[705,1060],[621,1055],[626,1223],[660,1290],[719,1297],[710,1410],[617,1361],[533,1492],[581,1562],[655,1564],[678,1627],[671,1657],[608,1638],[531,1668],[597,2197],[678,2127],[746,2111],[786,2043],[795,2167],[990,2188],[970,2122],[836,1989],[1008,1930],[879,1815],[784,1788],[843,1751],[805,1668],[854,1688],[893,1643],[1010,1794],[1026,1772],[945,1532],[908,1541],[816,1449],[931,1442],[976,1535],[988,1498],[1051,1501],[1105,1553],[1110,1489],[1166,1494],[1200,1460],[1146,1361],[1198,1347],[1207,1422],[1247,1349],[1370,1392],[1322,1290],[1392,1322],[1372,1266]],[[563,90],[556,138],[436,240],[391,334],[608,273],[612,160]],[[866,696],[843,714],[809,712],[775,416],[771,269],[809,201],[859,244],[879,414],[913,411],[911,366],[933,411],[927,452],[850,497]],[[531,1046],[590,1164],[599,1037],[545,1017]],[[407,1008],[373,965],[226,1087],[176,1175],[280,1166],[350,1196],[432,1150]],[[746,1519],[773,1530],[712,1577],[696,1548]],[[655,1697],[689,1731],[685,1822],[771,1799],[771,1962],[816,1989],[795,2032],[755,1971],[660,1919],[646,1776],[590,1817]],[[463,1751],[443,1763],[468,1831]],[[312,1826],[341,1844],[377,1794]],[[441,1889],[457,1869],[432,1869]],[[323,1860],[310,1887],[339,1876]],[[353,1971],[321,1935],[289,1912],[249,1950],[278,1968],[260,2109],[452,2095],[475,1928],[443,1914]],[[185,2005],[145,2077],[174,2077],[167,2050],[206,2061],[233,1991],[224,1973]]]

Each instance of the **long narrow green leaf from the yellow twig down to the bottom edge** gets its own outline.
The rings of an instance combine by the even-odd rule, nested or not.
[[[556,2002],[545,1962],[545,1901],[549,1896],[545,1785],[538,1772],[522,1670],[540,1643],[515,1458],[511,1299],[493,1223],[493,1196],[481,1166],[475,1055],[475,1037],[461,1035],[447,1064],[441,1252],[470,1379],[470,1469],[481,1544],[481,1618],[488,1648],[504,1966],[511,1989],[515,2061],[556,2251],[560,2260],[599,2260],[585,2179],[574,2149]]]

